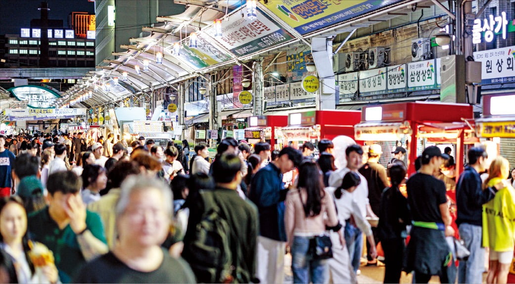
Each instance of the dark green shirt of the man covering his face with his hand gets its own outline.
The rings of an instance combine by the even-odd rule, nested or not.
[[[96,213],[86,211],[86,227],[95,238],[107,244],[102,221]],[[47,206],[28,215],[28,230],[33,240],[43,243],[54,253],[61,282],[70,283],[71,278],[86,263],[77,235],[70,225],[59,229],[57,223],[50,218]]]

